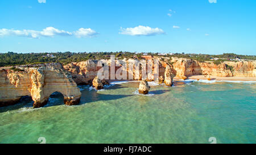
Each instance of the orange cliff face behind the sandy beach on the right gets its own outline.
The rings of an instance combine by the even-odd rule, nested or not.
[[[175,78],[187,78],[195,75],[216,77],[256,77],[256,61],[225,61],[219,65],[209,62],[198,62],[187,58],[172,58],[176,70]]]

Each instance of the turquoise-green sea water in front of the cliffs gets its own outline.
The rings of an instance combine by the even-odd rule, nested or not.
[[[175,82],[138,95],[138,82],[82,87],[81,103],[54,94],[0,108],[0,143],[256,143],[256,83]]]

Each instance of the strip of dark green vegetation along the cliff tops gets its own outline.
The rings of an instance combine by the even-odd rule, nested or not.
[[[68,64],[70,62],[80,62],[86,60],[109,59],[110,55],[115,55],[118,59],[133,58],[141,56],[144,53],[135,52],[56,52],[56,53],[0,53],[0,66],[15,66],[28,64],[45,64],[51,62],[60,62]],[[159,53],[146,53],[144,55],[159,56]],[[220,64],[223,61],[236,60],[256,60],[255,56],[236,55],[234,53],[224,53],[223,55],[202,55],[202,54],[184,54],[184,53],[169,53],[164,57],[179,57],[191,58],[199,62],[214,61],[214,64]]]

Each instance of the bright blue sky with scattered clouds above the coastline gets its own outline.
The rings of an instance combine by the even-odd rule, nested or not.
[[[256,1],[213,1],[0,1],[0,52],[255,55]]]

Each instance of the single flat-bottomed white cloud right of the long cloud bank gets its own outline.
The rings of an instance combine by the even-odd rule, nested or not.
[[[158,27],[151,28],[148,26],[137,26],[134,28],[122,28],[119,34],[122,35],[131,35],[131,36],[153,36],[153,35],[160,35],[163,34],[164,31]]]

